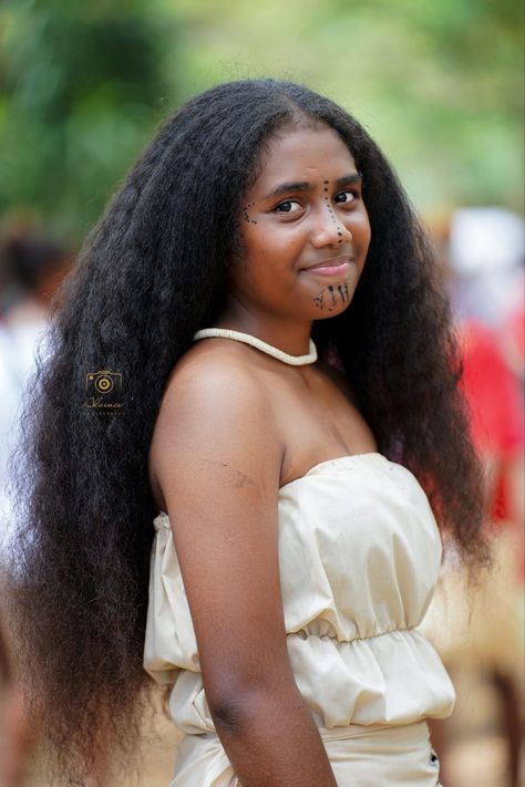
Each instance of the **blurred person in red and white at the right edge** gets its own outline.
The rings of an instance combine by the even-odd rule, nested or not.
[[[464,344],[463,389],[485,457],[491,521],[517,539],[523,577],[525,516],[525,222],[502,207],[453,214],[449,265]]]

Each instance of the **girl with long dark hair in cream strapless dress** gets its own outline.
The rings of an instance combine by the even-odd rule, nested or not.
[[[63,767],[132,752],[150,673],[172,787],[437,784],[454,691],[418,625],[440,530],[487,559],[480,472],[431,253],[357,121],[270,79],[191,100],[53,346],[13,593]]]

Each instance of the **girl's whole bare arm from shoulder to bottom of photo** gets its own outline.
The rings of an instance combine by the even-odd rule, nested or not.
[[[226,754],[244,787],[334,787],[288,659],[270,406],[245,370],[208,362],[175,376],[162,418],[158,483]]]

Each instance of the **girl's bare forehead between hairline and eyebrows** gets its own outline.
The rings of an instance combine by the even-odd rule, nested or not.
[[[253,189],[267,189],[277,180],[330,180],[354,172],[350,151],[332,128],[284,131],[266,143]]]

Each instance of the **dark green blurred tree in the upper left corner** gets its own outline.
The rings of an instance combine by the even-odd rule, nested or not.
[[[137,0],[16,0],[0,25],[0,210],[37,208],[79,237],[176,97],[176,23]]]

